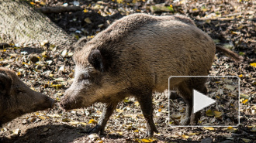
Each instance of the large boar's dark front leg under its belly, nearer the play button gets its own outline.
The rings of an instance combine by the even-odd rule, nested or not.
[[[147,135],[152,137],[154,132],[158,133],[153,121],[152,91],[142,92],[140,96],[137,96],[137,100],[147,121]]]

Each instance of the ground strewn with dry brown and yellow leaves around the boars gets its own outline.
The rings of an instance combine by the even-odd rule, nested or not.
[[[102,114],[102,104],[73,111],[61,111],[59,105],[50,111],[26,114],[5,124],[0,131],[0,142],[255,142],[256,137],[256,3],[251,0],[162,1],[112,0],[29,1],[35,8],[79,5],[84,11],[47,14],[67,33],[79,39],[106,29],[113,21],[135,12],[153,15],[182,13],[195,20],[218,44],[244,57],[235,63],[216,53],[210,75],[240,78],[240,125],[236,128],[177,128],[168,125],[168,93],[154,94],[154,121],[159,134],[145,138],[146,127],[140,105],[133,97],[126,98],[112,114],[104,135],[88,134]],[[36,91],[47,94],[58,102],[74,77],[74,51],[61,49],[42,41],[41,46],[12,45],[0,49],[0,66],[16,71],[22,81]],[[224,87],[223,87],[224,88]],[[232,86],[230,87],[232,88]],[[233,88],[232,88],[233,89]],[[231,91],[232,91],[231,89]],[[221,89],[220,89],[221,90]],[[219,92],[220,92],[219,90]],[[220,97],[222,94],[218,94]],[[226,95],[228,97],[228,95]],[[223,97],[225,98],[225,97]],[[178,120],[185,112],[180,97],[171,99],[171,113]],[[237,107],[234,107],[237,109]],[[206,111],[210,120],[227,117],[220,111]],[[234,120],[235,117],[230,117]],[[174,122],[171,122],[174,124]]]

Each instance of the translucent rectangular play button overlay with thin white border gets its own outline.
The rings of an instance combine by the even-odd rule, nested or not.
[[[171,127],[237,127],[240,124],[240,104],[246,99],[239,96],[239,77],[171,76],[168,83],[166,118]],[[162,116],[164,111],[158,112],[157,115]]]

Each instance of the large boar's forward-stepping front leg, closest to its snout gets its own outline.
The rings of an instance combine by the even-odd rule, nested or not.
[[[102,112],[102,117],[99,120],[99,124],[97,124],[95,128],[92,128],[92,130],[90,131],[91,134],[103,134],[106,123],[109,120],[109,117],[111,116],[113,111],[116,109],[117,104],[118,103],[105,104],[105,107]]]

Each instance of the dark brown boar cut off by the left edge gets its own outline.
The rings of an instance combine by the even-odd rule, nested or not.
[[[55,100],[31,90],[12,70],[0,67],[0,127],[22,114],[54,107]]]

